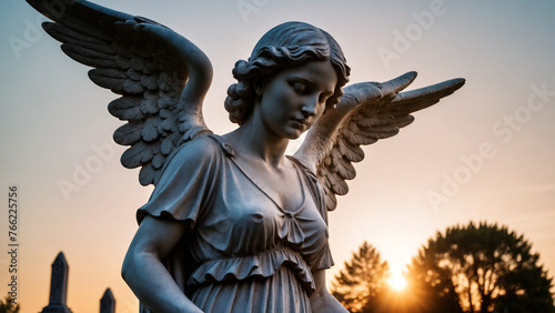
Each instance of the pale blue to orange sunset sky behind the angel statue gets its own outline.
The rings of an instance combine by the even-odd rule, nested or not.
[[[408,89],[465,78],[460,91],[415,113],[400,134],[364,148],[349,194],[330,213],[335,266],[327,280],[363,241],[398,273],[437,231],[470,221],[524,234],[555,274],[554,1],[97,3],[159,21],[209,55],[214,80],[204,115],[220,134],[234,129],[223,109],[234,62],[284,21],[329,31],[343,48],[353,83],[407,71],[418,72]],[[137,230],[135,210],[152,189],[120,164],[124,148],[112,133],[122,122],[107,110],[117,95],[93,84],[88,68],[37,28],[46,18],[23,0],[2,1],[0,18],[0,297],[10,276],[8,188],[16,184],[22,312],[48,304],[50,264],[60,251],[70,264],[73,312],[98,312],[107,287],[117,312],[138,312],[120,267]],[[99,160],[93,172],[80,173]],[[64,193],[60,183],[79,190]]]

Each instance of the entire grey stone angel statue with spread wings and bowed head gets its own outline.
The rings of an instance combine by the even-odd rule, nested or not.
[[[113,134],[130,145],[121,162],[154,184],[122,266],[142,312],[346,312],[325,286],[327,211],[361,145],[396,134],[464,79],[401,92],[408,72],[343,89],[351,70],[337,42],[286,22],[235,63],[224,107],[239,127],[216,135],[202,115],[212,67],[188,39],[84,0],[27,2],[94,83],[121,94],[108,105],[127,121]]]

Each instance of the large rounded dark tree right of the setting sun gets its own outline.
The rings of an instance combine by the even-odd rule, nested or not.
[[[437,233],[408,266],[413,312],[555,312],[552,279],[522,236],[472,222]]]

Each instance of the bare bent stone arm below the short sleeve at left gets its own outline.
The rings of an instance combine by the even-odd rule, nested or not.
[[[151,312],[202,312],[183,294],[161,262],[184,231],[182,222],[147,215],[125,254],[123,280]]]

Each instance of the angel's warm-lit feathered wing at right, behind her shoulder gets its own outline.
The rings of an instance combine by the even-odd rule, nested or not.
[[[349,192],[346,180],[356,175],[352,163],[364,159],[361,145],[395,135],[413,122],[412,112],[437,103],[465,82],[453,79],[401,92],[415,78],[416,72],[408,72],[384,83],[346,87],[336,108],[325,111],[307,132],[294,156],[316,173],[325,190],[329,211],[337,205],[335,195]]]

